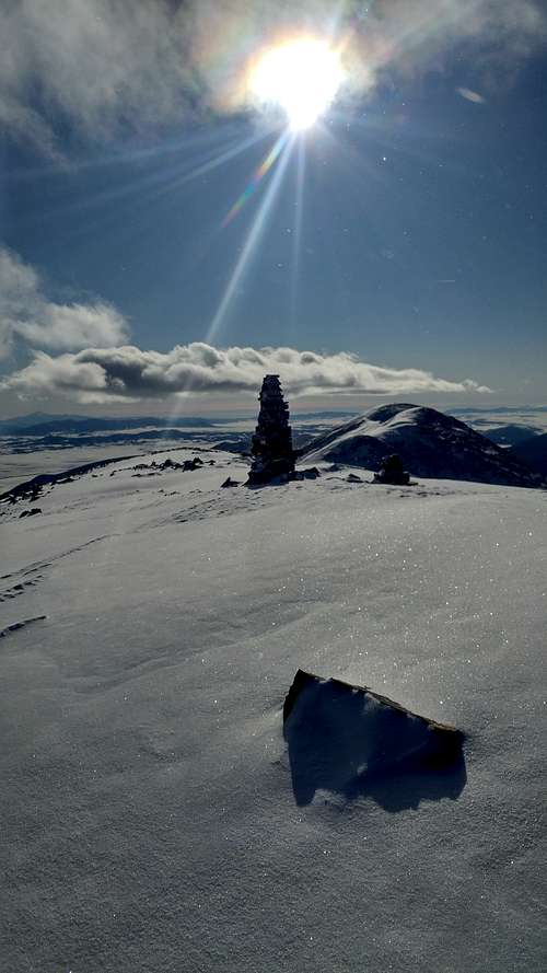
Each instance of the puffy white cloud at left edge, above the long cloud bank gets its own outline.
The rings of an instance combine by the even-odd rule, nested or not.
[[[48,300],[36,270],[0,247],[0,358],[10,354],[18,337],[33,346],[68,350],[117,345],[127,334],[124,317],[103,301]]]

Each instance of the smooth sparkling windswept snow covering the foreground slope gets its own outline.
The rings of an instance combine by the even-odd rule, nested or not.
[[[2,969],[543,971],[545,493],[209,455],[4,507]],[[299,667],[461,728],[457,786],[299,802]]]

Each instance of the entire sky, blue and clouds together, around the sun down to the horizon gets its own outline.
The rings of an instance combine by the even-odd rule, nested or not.
[[[545,402],[544,8],[525,2],[516,22],[511,4],[493,20],[489,7],[342,3],[336,23],[326,4],[291,8],[295,33],[302,12],[309,34],[352,32],[347,90],[288,138],[228,225],[286,119],[219,101],[216,85],[224,96],[269,43],[277,7],[256,4],[249,25],[233,19],[237,3],[224,21],[223,4],[201,4],[201,22],[191,4],[146,0],[137,37],[125,2],[59,12],[54,0],[49,15],[71,25],[60,39],[31,14],[44,63],[35,50],[0,73],[2,412],[199,413],[205,394],[238,409],[274,368],[303,405],[325,408],[371,395]],[[9,24],[13,49],[24,15]],[[166,24],[182,74],[155,36]],[[380,42],[392,51],[381,60]],[[366,81],[359,59],[374,65]],[[126,345],[128,358],[114,354]],[[265,346],[292,350],[283,363],[260,357]]]

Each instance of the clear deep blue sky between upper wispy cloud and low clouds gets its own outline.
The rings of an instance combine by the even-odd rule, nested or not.
[[[533,60],[476,104],[457,92],[475,89],[469,61],[454,58],[300,136],[300,246],[296,146],[214,343],[354,351],[473,378],[500,402],[544,401],[546,81]],[[276,137],[222,120],[106,155],[81,147],[67,166],[8,146],[2,242],[50,297],[112,302],[140,347],[203,340],[275,169],[222,220]]]

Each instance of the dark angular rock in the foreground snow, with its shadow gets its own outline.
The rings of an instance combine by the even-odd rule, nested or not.
[[[456,798],[465,786],[463,733],[365,686],[299,669],[283,720],[299,804],[329,790],[394,810]]]

